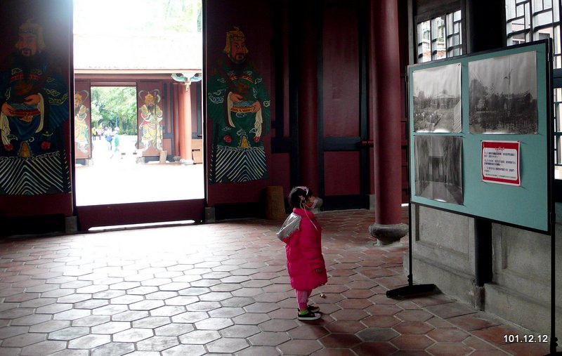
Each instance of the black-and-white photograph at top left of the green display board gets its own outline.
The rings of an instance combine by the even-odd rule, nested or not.
[[[415,70],[412,88],[414,131],[461,132],[460,63]]]

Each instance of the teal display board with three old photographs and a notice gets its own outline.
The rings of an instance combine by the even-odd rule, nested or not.
[[[549,48],[408,67],[411,202],[549,233]]]

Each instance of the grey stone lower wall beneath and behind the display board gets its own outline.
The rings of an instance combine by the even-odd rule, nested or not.
[[[557,206],[557,210],[562,208]],[[556,215],[562,221],[562,214]],[[561,340],[561,223],[556,224],[556,236],[556,334]],[[485,284],[482,291],[474,284],[474,219],[412,206],[414,284],[436,284],[459,301],[550,336],[550,236],[492,224],[492,256],[492,283]]]

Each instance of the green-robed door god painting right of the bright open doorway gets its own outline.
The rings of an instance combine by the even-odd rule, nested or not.
[[[211,183],[268,178],[263,136],[269,132],[270,99],[246,37],[237,27],[209,77],[207,106],[213,128]]]

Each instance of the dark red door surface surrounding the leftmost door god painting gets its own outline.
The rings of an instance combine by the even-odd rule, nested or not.
[[[0,63],[4,62],[13,52],[18,40],[18,27],[28,18],[34,18],[43,25],[46,51],[51,53],[53,62],[60,66],[65,79],[70,77],[70,53],[72,34],[72,1],[44,1],[44,0],[7,0],[2,1],[0,11]],[[72,98],[74,88],[69,82],[69,93]],[[69,100],[72,105],[74,100]],[[72,110],[70,110],[72,112]],[[72,116],[72,114],[71,114]],[[70,136],[70,117],[63,123],[65,150],[67,161],[71,162],[72,152]],[[72,170],[71,172],[72,181]],[[63,214],[72,216],[73,202],[71,193],[52,195],[0,195],[0,218],[12,216],[34,216],[47,214]]]

